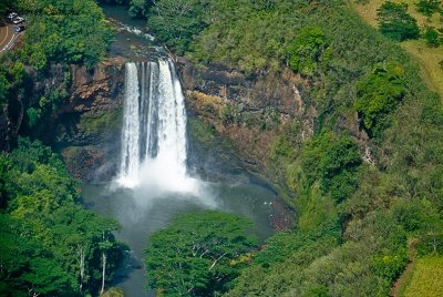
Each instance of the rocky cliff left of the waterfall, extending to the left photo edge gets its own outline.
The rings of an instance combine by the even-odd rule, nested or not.
[[[62,153],[75,177],[111,178],[120,155],[124,63],[122,58],[112,58],[93,71],[55,64],[43,76],[29,70],[24,86],[12,90],[8,109],[0,112],[0,150],[13,148],[18,135],[38,137]],[[44,113],[30,127],[27,111],[41,106],[54,91],[68,98],[56,112]]]

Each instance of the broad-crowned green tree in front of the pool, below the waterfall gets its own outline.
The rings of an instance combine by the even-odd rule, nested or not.
[[[166,296],[208,296],[227,289],[240,256],[256,247],[249,219],[205,212],[179,215],[150,237],[145,265],[150,288]]]

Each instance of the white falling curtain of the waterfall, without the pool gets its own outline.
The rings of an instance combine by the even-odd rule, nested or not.
[[[171,60],[125,65],[125,102],[119,183],[186,181],[186,110]],[[152,182],[152,181],[151,181]]]

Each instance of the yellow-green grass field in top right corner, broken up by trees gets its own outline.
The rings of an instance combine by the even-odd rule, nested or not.
[[[414,17],[419,25],[433,25],[435,28],[443,28],[443,17],[434,13],[432,18],[426,18],[415,10],[415,0],[392,0],[394,2],[405,2],[409,4],[409,13]],[[360,14],[360,17],[373,27],[378,27],[377,9],[385,0],[369,0],[365,4],[358,4],[352,1],[352,8]],[[440,68],[439,62],[443,61],[443,45],[433,49],[429,48],[423,39],[410,40],[402,42],[401,45],[419,62],[422,76],[427,83],[429,88],[440,94],[443,99],[443,70]]]

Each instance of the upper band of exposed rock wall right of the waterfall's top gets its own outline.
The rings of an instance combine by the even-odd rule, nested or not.
[[[274,107],[287,116],[302,112],[303,102],[298,86],[305,82],[290,71],[257,76],[222,64],[197,68],[184,58],[179,58],[177,63],[184,89],[187,91],[239,103],[245,111]]]

